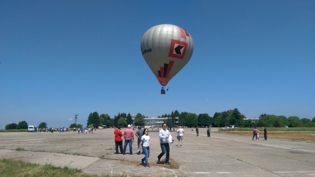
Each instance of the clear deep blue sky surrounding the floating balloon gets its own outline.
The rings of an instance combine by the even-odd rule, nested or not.
[[[165,95],[141,55],[152,26],[194,41]],[[315,1],[1,1],[0,129],[89,113],[315,116]]]

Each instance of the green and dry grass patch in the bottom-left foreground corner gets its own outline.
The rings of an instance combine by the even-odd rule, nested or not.
[[[34,176],[34,177],[98,177],[96,174],[82,173],[81,170],[69,167],[54,167],[51,164],[37,165],[11,159],[0,159],[1,177]],[[126,175],[101,175],[100,177],[127,177]]]

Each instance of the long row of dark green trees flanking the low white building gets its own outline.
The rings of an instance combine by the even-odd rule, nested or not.
[[[178,119],[177,119],[178,117]],[[230,109],[223,112],[215,112],[211,117],[208,113],[188,113],[188,112],[179,112],[178,110],[172,111],[171,113],[165,113],[161,116],[159,115],[157,118],[168,118],[165,123],[168,127],[174,126],[187,126],[187,127],[225,127],[235,125],[237,127],[315,127],[315,117],[311,119],[300,119],[296,116],[276,116],[269,114],[261,114],[259,120],[244,120],[246,118],[245,115],[241,114],[238,108]],[[93,125],[95,126],[112,126],[116,127],[127,126],[128,124],[133,124],[133,120],[131,119],[130,113],[118,113],[113,118],[111,118],[108,114],[98,114],[97,112],[90,113],[87,126]],[[134,125],[145,125],[145,120],[141,113],[138,113],[135,116]]]

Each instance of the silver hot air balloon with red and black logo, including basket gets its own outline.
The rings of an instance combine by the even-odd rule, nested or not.
[[[192,57],[194,43],[191,35],[176,25],[156,25],[144,33],[141,53],[153,74],[163,86],[167,85]]]

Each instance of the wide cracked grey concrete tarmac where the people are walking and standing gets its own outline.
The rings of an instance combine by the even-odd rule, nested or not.
[[[211,137],[207,137],[206,129],[200,128],[197,137],[195,130],[184,130],[184,146],[176,146],[177,133],[171,132],[175,142],[170,145],[170,158],[180,164],[179,169],[167,169],[164,168],[166,164],[157,164],[157,156],[161,153],[158,132],[150,130],[151,168],[140,165],[144,155],[136,154],[136,139],[132,146],[133,155],[129,154],[129,146],[126,155],[114,153],[114,129],[79,135],[76,132],[0,133],[0,158],[68,166],[90,174],[315,176],[315,142],[275,138],[263,141],[263,137],[260,141],[252,141],[250,136],[214,133],[217,131],[215,128],[211,130]],[[24,148],[24,151],[15,151],[17,147]]]

